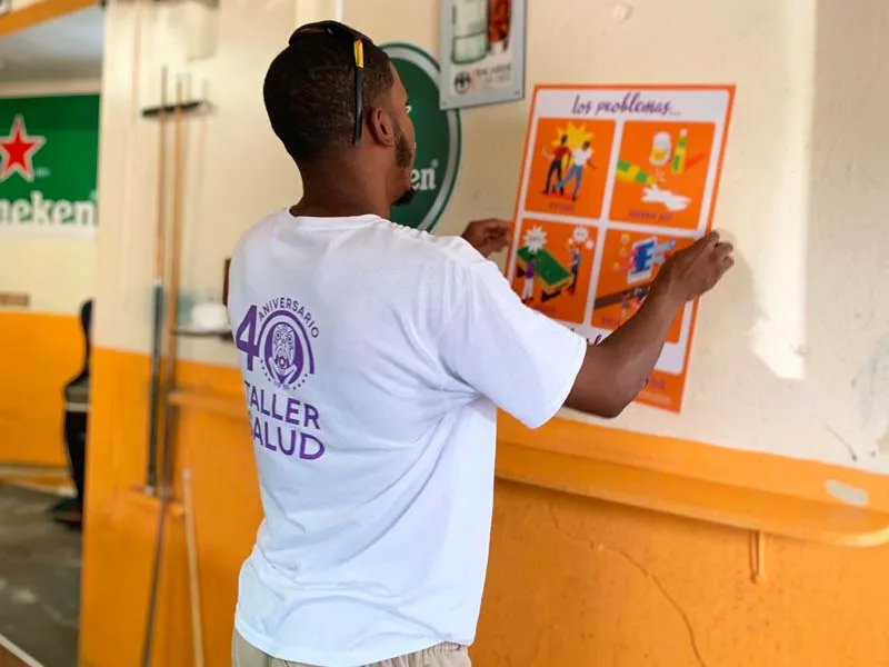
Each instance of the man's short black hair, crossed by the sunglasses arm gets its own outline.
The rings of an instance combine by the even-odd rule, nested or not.
[[[299,32],[299,31],[298,31]],[[363,39],[364,109],[382,104],[394,84],[389,57]],[[262,97],[272,130],[297,162],[351,142],[354,128],[354,52],[350,39],[327,31],[293,33],[272,61]]]

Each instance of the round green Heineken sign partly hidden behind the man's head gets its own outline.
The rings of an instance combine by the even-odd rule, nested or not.
[[[392,207],[393,222],[432,231],[444,212],[460,166],[460,112],[442,111],[439,68],[426,51],[403,43],[381,47],[392,60],[408,90],[410,117],[417,131],[417,156],[411,172],[414,196],[410,203]]]

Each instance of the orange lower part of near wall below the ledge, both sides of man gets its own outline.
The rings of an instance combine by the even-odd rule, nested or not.
[[[138,665],[158,504],[140,490],[148,359],[97,350],[81,667]],[[191,388],[240,390],[237,370],[180,364]],[[207,664],[228,665],[238,570],[261,518],[249,426],[181,410],[192,469]],[[168,522],[154,667],[191,664],[181,508]],[[418,536],[422,538],[422,536]],[[750,580],[748,534],[498,481],[473,664],[483,667],[878,665],[889,655],[889,547],[769,538]]]

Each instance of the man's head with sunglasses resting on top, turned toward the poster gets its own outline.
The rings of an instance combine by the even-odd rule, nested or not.
[[[303,180],[350,169],[379,179],[390,203],[412,195],[416,139],[408,94],[370,39],[333,21],[303,26],[272,61],[262,92],[271,127]]]

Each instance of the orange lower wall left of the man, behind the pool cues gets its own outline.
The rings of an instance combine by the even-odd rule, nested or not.
[[[206,391],[240,390],[236,369],[180,362],[177,375],[180,384]],[[159,507],[142,489],[149,359],[98,349],[92,382],[80,664],[139,665]],[[192,471],[207,665],[228,665],[238,571],[262,517],[249,425],[196,411],[174,419],[176,479],[184,465]],[[187,667],[192,655],[181,506],[170,516],[153,665]]]

